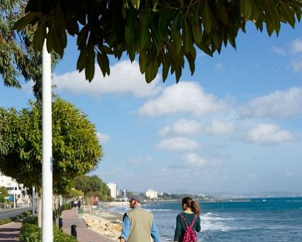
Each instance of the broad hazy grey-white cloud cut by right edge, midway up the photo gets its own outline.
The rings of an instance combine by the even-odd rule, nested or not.
[[[241,117],[285,117],[301,112],[302,88],[289,88],[251,100],[239,114]]]

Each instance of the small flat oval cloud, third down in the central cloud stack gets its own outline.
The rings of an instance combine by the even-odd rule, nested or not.
[[[162,140],[160,144],[157,145],[158,149],[164,150],[192,150],[199,147],[198,143],[194,140],[190,140],[186,137],[173,137],[169,139]]]

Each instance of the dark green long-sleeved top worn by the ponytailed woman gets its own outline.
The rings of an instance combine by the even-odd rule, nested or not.
[[[184,216],[184,218],[187,221],[188,226],[191,225],[195,214],[189,214],[186,212],[182,212],[182,215]],[[197,215],[197,219],[195,221],[195,223],[192,226],[194,231],[199,232],[201,227],[200,227],[200,217]],[[175,236],[174,236],[174,241],[179,241],[180,239],[180,234],[184,233],[184,231],[186,231],[186,224],[184,223],[184,219],[182,219],[182,217],[178,214],[176,217],[176,228],[175,228]]]

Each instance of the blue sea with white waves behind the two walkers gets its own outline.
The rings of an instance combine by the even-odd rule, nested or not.
[[[302,242],[302,197],[200,202],[198,241]],[[143,205],[151,211],[161,241],[173,241],[180,203]],[[113,211],[123,214],[126,207]]]

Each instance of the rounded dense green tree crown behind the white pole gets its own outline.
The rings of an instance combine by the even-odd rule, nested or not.
[[[102,157],[95,126],[78,108],[53,101],[53,190],[63,194],[72,179],[92,171]],[[0,171],[25,186],[41,187],[41,102],[29,108],[0,108],[0,132],[9,150],[0,155]]]

